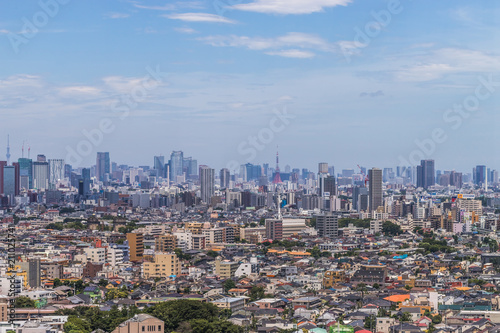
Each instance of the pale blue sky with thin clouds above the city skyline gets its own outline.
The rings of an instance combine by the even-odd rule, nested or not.
[[[487,0],[3,1],[0,156],[10,134],[13,160],[74,167],[500,169],[499,22]]]

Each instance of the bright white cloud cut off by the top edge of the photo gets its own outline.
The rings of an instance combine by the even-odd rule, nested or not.
[[[346,6],[351,2],[352,0],[255,0],[230,8],[266,14],[311,14],[329,7]]]

